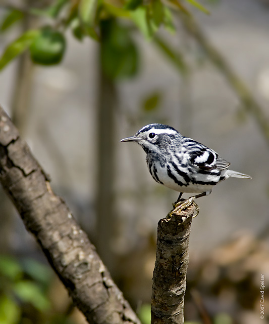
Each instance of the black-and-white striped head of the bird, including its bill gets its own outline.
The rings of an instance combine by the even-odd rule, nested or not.
[[[134,136],[122,139],[121,142],[137,142],[147,154],[150,152],[165,153],[167,145],[171,144],[171,141],[178,135],[180,134],[173,127],[150,124],[141,128]]]

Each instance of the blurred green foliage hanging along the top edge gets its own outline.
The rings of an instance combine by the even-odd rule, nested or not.
[[[101,42],[105,51],[101,60],[107,76],[112,79],[132,77],[139,66],[133,31],[139,29],[147,39],[153,38],[161,26],[175,31],[171,8],[189,15],[183,5],[185,2],[208,13],[194,0],[169,0],[166,5],[160,0],[146,3],[141,0],[55,0],[43,8],[21,10],[9,5],[0,32],[7,31],[25,15],[39,16],[40,21],[45,17],[46,25],[27,30],[11,42],[0,57],[0,70],[27,50],[36,64],[59,64],[66,51],[65,31],[71,29],[79,41],[91,37]],[[171,53],[169,55],[171,57]]]

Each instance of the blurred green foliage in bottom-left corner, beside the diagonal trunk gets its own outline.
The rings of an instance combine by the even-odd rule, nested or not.
[[[0,324],[73,324],[53,311],[48,290],[53,271],[33,259],[0,256]]]

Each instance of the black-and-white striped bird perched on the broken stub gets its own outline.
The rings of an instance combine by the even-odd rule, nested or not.
[[[230,163],[216,151],[181,135],[168,125],[146,125],[134,136],[124,138],[121,142],[138,143],[146,153],[146,163],[152,178],[180,192],[173,205],[177,211],[189,207],[194,199],[209,195],[215,185],[230,177],[251,179],[246,174],[230,170]],[[184,204],[181,196],[185,192],[198,194],[186,199]]]

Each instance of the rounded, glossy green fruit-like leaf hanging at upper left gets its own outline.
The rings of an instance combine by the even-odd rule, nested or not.
[[[55,65],[61,62],[66,41],[64,35],[51,27],[41,29],[30,48],[31,59],[34,63],[42,65]]]

